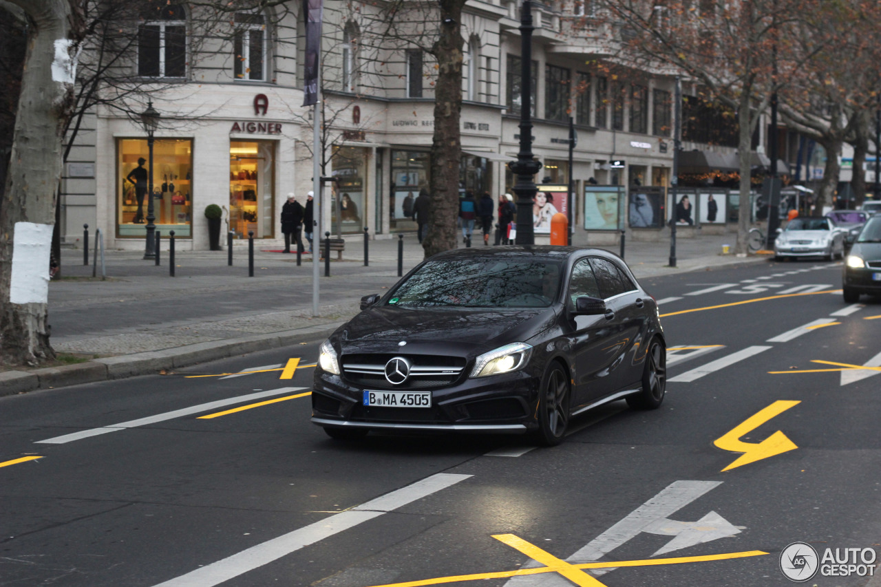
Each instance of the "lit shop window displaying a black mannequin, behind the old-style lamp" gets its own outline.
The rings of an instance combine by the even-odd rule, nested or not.
[[[116,235],[144,238],[152,171],[156,229],[162,234],[174,230],[177,237],[189,237],[193,142],[189,139],[156,139],[153,141],[152,170],[149,160],[145,138],[126,138],[117,143]]]

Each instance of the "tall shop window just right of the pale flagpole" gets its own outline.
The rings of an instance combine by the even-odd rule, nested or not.
[[[330,172],[336,179],[330,189],[330,226],[337,234],[364,230],[367,161],[370,149],[334,146]]]

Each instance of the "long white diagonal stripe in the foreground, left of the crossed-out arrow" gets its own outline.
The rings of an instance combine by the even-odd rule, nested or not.
[[[437,473],[407,487],[381,495],[357,508],[334,514],[315,522],[315,524],[309,524],[278,538],[251,546],[241,553],[233,554],[202,568],[196,568],[186,575],[159,583],[155,587],[213,587],[213,585],[224,583],[233,577],[277,561],[287,554],[300,550],[300,548],[315,544],[315,542],[329,538],[338,532],[401,508],[470,477],[471,475]]]

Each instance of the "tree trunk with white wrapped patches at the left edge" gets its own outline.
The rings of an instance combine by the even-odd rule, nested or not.
[[[82,21],[64,0],[12,2],[33,26],[0,207],[0,357],[38,365],[55,356],[47,323],[49,253],[78,56],[71,34]]]

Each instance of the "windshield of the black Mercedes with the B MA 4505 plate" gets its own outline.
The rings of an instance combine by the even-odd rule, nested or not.
[[[547,308],[557,298],[560,265],[510,258],[429,261],[398,286],[389,306]]]

